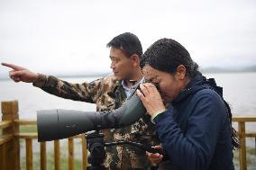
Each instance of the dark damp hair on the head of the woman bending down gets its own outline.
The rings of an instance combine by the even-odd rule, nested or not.
[[[179,65],[186,67],[186,74],[193,77],[198,72],[198,65],[176,40],[160,39],[145,51],[141,67],[150,65],[160,71],[175,73]]]

